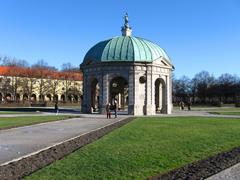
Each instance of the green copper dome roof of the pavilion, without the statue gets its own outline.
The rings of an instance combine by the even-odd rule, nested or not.
[[[157,44],[133,36],[119,36],[101,41],[84,57],[84,62],[152,62],[160,57],[170,58]]]

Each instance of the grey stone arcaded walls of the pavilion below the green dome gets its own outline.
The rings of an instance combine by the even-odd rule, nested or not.
[[[154,115],[172,112],[172,70],[164,58],[152,63],[100,62],[81,65],[83,72],[83,105],[85,113],[91,112],[92,82],[99,83],[99,111],[105,113],[105,105],[111,102],[110,82],[121,77],[128,85],[128,114]]]

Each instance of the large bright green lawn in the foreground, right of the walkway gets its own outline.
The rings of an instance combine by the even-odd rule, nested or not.
[[[26,179],[146,179],[240,146],[240,119],[137,118]]]

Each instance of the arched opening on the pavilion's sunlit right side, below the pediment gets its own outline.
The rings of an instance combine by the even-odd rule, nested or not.
[[[166,85],[160,78],[155,81],[155,106],[156,112],[166,112]]]

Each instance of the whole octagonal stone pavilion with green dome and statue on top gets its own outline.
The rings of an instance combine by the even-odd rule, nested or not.
[[[172,112],[172,71],[157,44],[132,36],[125,15],[122,36],[101,41],[85,55],[82,111],[105,113],[107,103],[132,115]]]

